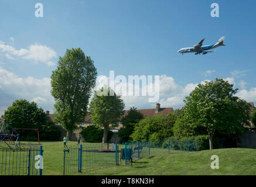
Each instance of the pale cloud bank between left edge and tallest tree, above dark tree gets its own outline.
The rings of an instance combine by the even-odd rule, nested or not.
[[[54,99],[50,93],[50,78],[21,78],[0,67],[0,113],[12,105],[15,99],[35,101],[39,107],[53,109]]]

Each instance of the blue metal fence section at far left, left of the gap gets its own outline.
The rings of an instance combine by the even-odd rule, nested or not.
[[[0,175],[42,175],[42,154],[42,146],[21,146],[15,151],[1,146]]]

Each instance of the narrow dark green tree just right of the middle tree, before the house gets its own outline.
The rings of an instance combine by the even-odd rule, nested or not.
[[[129,109],[126,116],[122,117],[121,123],[124,127],[118,130],[118,137],[121,138],[122,142],[127,142],[131,139],[129,136],[134,131],[135,124],[141,119],[144,119],[144,116],[134,107]]]

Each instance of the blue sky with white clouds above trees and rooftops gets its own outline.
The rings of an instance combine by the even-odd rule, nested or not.
[[[37,2],[43,4],[43,18],[35,16]],[[212,3],[220,6],[219,18],[210,16]],[[253,0],[1,0],[0,76],[5,78],[0,79],[0,113],[21,98],[52,111],[49,78],[58,57],[72,47],[91,56],[98,75],[108,77],[110,70],[162,75],[171,85],[162,88],[164,107],[179,108],[194,85],[216,77],[256,102],[255,7]],[[216,53],[177,53],[204,37],[204,44],[213,44],[221,36],[226,47]],[[125,101],[127,108],[155,106],[143,99]]]

